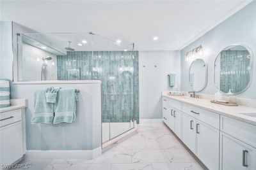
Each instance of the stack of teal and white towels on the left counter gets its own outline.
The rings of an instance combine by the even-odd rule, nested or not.
[[[0,108],[11,106],[10,81],[0,80]]]

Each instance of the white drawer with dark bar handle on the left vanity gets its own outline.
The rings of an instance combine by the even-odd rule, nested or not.
[[[21,120],[21,110],[12,110],[0,113],[0,127],[3,127]]]

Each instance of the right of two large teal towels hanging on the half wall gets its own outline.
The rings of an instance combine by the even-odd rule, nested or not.
[[[54,104],[53,124],[72,123],[76,120],[76,89],[60,89],[57,102]]]

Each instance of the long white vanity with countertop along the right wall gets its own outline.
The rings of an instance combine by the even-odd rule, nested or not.
[[[256,169],[256,108],[162,95],[163,122],[211,170]]]

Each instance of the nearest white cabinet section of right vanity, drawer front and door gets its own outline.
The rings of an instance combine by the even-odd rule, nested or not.
[[[221,116],[220,170],[256,169],[256,126]]]

